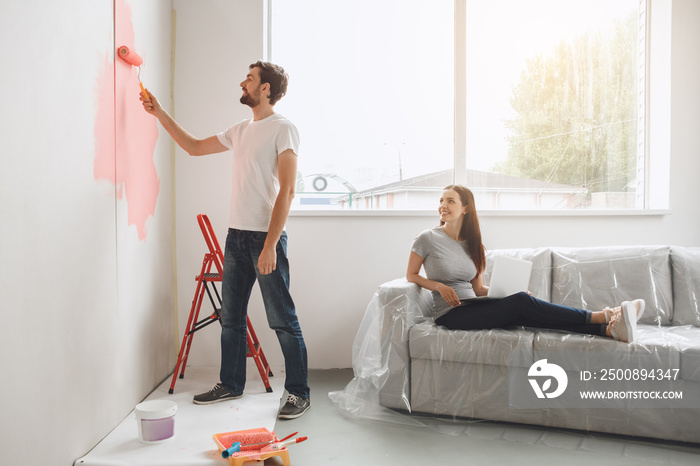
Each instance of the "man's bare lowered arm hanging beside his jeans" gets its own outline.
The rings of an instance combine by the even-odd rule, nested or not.
[[[297,155],[292,149],[287,149],[277,157],[277,177],[279,178],[280,192],[272,209],[272,219],[267,230],[265,245],[258,258],[258,270],[263,275],[268,275],[277,268],[277,242],[282,236],[294,199],[294,188],[297,182]]]

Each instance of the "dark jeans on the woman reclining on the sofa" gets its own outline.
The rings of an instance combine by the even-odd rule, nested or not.
[[[603,336],[606,328],[606,324],[591,323],[591,311],[548,303],[525,292],[502,299],[469,300],[435,323],[450,330],[523,326]]]

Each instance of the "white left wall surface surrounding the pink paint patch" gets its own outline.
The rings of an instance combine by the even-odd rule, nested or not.
[[[170,15],[169,0],[132,5],[142,77],[166,95]],[[3,465],[73,464],[174,365],[170,141],[153,154],[160,192],[143,239],[129,224],[138,184],[118,199],[95,176],[114,31],[111,1],[0,3]]]

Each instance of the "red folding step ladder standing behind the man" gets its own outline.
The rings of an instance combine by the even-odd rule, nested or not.
[[[199,272],[199,275],[195,277],[195,280],[197,280],[197,290],[194,293],[192,308],[190,309],[190,317],[187,320],[187,328],[185,329],[185,335],[183,336],[182,344],[180,345],[180,353],[177,356],[177,364],[175,365],[175,371],[173,372],[173,380],[170,383],[170,390],[168,390],[168,393],[170,394],[173,393],[173,389],[175,388],[178,371],[180,372],[181,379],[185,377],[185,366],[187,365],[187,358],[190,354],[190,347],[192,346],[192,339],[194,338],[195,332],[221,319],[221,295],[219,294],[215,283],[221,282],[221,277],[224,273],[224,255],[221,252],[219,241],[216,239],[216,235],[211,227],[209,218],[204,214],[199,214],[197,215],[197,221],[199,222],[199,228],[202,230],[202,235],[204,235],[204,240],[207,243],[209,252],[204,254],[202,270]],[[215,269],[212,270],[212,267],[215,267]],[[210,285],[214,290],[216,300],[214,300],[214,296],[212,296],[209,289]],[[214,308],[214,312],[208,317],[197,320],[199,319],[199,311],[202,307],[205,292],[209,296],[209,301]],[[268,364],[267,358],[265,358],[265,353],[263,353],[262,347],[258,342],[258,337],[250,323],[250,318],[246,316],[246,319],[248,324],[248,352],[246,353],[246,356],[255,360],[255,365],[258,367],[258,372],[260,372],[260,377],[265,384],[265,389],[268,392],[271,392],[272,387],[270,386],[270,379],[268,378],[272,377],[270,365]]]

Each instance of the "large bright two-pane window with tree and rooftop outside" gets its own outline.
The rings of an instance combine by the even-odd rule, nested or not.
[[[295,208],[643,208],[645,3],[274,0]]]

